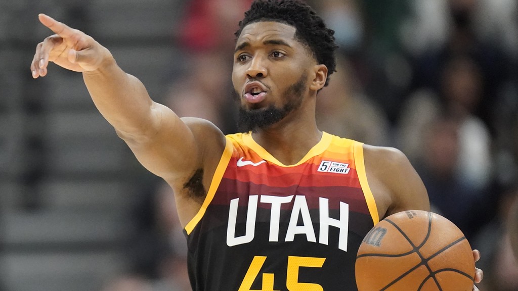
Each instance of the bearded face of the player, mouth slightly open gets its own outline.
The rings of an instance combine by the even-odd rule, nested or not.
[[[298,109],[308,94],[310,51],[295,27],[279,22],[245,26],[236,42],[232,81],[243,131],[264,128]]]

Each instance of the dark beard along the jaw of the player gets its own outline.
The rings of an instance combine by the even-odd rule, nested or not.
[[[303,74],[299,80],[290,85],[282,94],[287,99],[281,108],[270,105],[265,108],[245,109],[239,107],[237,127],[239,132],[257,132],[259,129],[267,128],[281,121],[289,113],[298,109],[304,99],[304,91],[306,89],[307,74]],[[240,96],[232,90],[234,98],[239,102]]]

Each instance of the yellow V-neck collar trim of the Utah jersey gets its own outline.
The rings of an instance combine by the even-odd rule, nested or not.
[[[298,161],[298,163],[296,163],[294,165],[284,165],[283,163],[279,162],[279,160],[277,158],[272,156],[268,151],[266,151],[263,147],[261,147],[260,144],[258,144],[252,138],[252,135],[250,133],[243,134],[242,139],[243,139],[244,145],[249,147],[250,149],[252,149],[252,151],[254,151],[262,159],[265,159],[266,161],[274,163],[277,166],[281,166],[281,167],[295,167],[300,164],[303,164],[309,158],[318,156],[321,153],[323,153],[327,149],[327,147],[329,147],[329,144],[331,143],[331,141],[333,139],[333,135],[330,135],[326,132],[322,132],[322,138],[320,139],[320,141],[318,143],[316,143],[315,146],[313,148],[311,148],[311,150],[309,150],[309,152],[300,161]]]

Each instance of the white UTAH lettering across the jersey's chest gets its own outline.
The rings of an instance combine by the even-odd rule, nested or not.
[[[280,234],[280,213],[283,203],[291,203],[293,208],[290,216],[290,222],[285,234]],[[270,228],[269,241],[278,242],[279,237],[283,241],[293,241],[295,235],[303,235],[307,241],[316,243],[316,234],[313,229],[313,221],[308,208],[306,197],[303,195],[291,196],[270,196],[270,195],[250,195],[248,200],[246,231],[243,236],[236,237],[236,221],[239,205],[239,198],[230,201],[228,213],[228,225],[226,234],[226,243],[228,246],[235,246],[251,242],[255,237],[255,223],[258,203],[270,204]],[[301,224],[299,217],[302,217]],[[329,217],[329,199],[319,198],[319,238],[318,243],[328,245],[329,227],[337,227],[339,229],[338,249],[347,252],[347,237],[349,230],[349,205],[340,202],[339,219]]]

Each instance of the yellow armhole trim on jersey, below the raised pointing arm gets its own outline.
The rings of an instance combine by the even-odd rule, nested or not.
[[[202,208],[199,209],[198,213],[196,213],[193,219],[185,226],[185,231],[187,232],[187,235],[190,235],[194,227],[196,227],[196,225],[198,224],[198,222],[202,220],[202,217],[205,214],[207,207],[209,207],[210,202],[212,202],[216,190],[218,190],[218,187],[220,185],[221,179],[223,178],[223,174],[225,173],[226,167],[228,166],[228,162],[232,157],[232,153],[232,141],[226,138],[225,149],[223,150],[223,154],[221,155],[218,167],[216,168],[214,176],[212,177],[212,181],[210,182],[209,192],[207,192],[207,197],[205,197],[205,200],[203,201]]]

